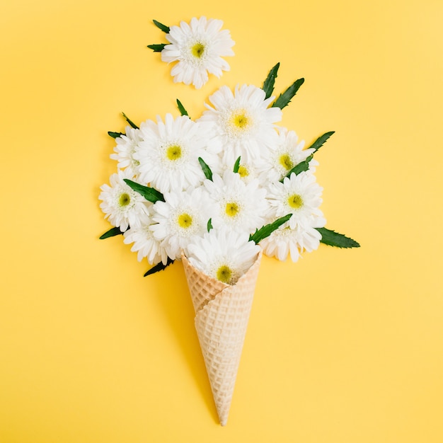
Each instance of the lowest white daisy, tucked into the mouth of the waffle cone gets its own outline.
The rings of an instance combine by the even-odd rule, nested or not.
[[[249,241],[248,234],[229,229],[211,229],[205,236],[194,238],[186,251],[193,266],[226,284],[236,284],[259,252],[260,246]]]

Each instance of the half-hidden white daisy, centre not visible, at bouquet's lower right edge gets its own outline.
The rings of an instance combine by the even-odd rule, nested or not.
[[[260,246],[268,257],[284,261],[290,255],[291,260],[297,262],[303,251],[316,250],[320,241],[321,234],[313,226],[304,228],[297,225],[291,229],[289,224],[285,224],[273,231],[270,236],[263,238],[260,241]]]

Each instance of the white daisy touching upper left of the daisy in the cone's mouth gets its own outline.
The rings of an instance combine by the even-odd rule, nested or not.
[[[205,188],[180,192],[166,192],[165,201],[154,204],[150,229],[161,242],[168,256],[175,260],[195,236],[207,232],[212,201]]]

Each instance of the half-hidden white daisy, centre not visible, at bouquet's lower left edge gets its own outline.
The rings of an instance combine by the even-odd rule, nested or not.
[[[166,249],[161,246],[161,243],[154,237],[154,232],[151,230],[151,224],[142,224],[137,228],[130,228],[125,231],[125,244],[132,244],[131,251],[137,252],[137,260],[142,261],[144,257],[148,260],[149,265],[156,265],[168,262],[168,254]]]

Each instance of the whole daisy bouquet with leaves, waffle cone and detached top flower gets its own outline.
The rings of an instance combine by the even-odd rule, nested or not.
[[[222,21],[205,17],[169,28],[169,44],[149,45],[176,63],[173,81],[201,88],[220,76],[234,55]],[[122,234],[145,275],[183,263],[195,309],[195,328],[222,425],[226,425],[241,350],[263,255],[296,262],[320,243],[359,244],[326,228],[313,159],[333,132],[309,147],[277,125],[304,79],[273,95],[280,64],[263,86],[222,86],[192,119],[177,100],[176,117],[136,125],[123,114],[124,132],[111,159],[117,171],[101,186],[100,208],[113,226],[100,238]]]

